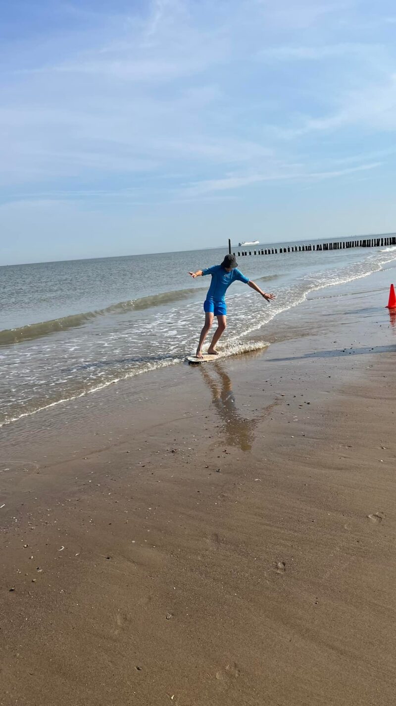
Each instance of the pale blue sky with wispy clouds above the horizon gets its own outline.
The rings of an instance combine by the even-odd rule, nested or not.
[[[0,0],[0,264],[396,229],[393,0]]]

